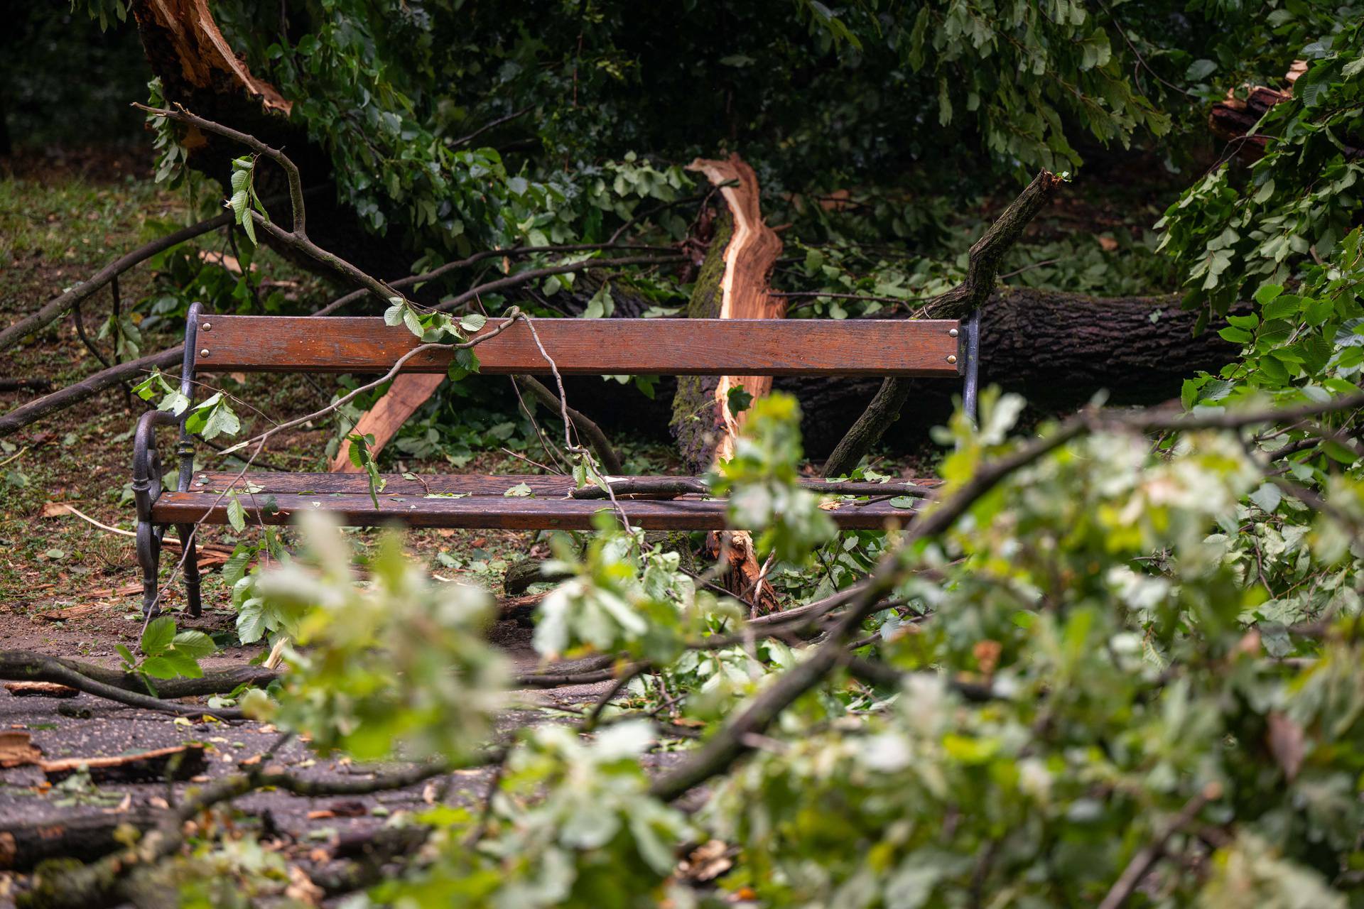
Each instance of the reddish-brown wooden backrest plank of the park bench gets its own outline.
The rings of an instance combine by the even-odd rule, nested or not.
[[[491,319],[483,331],[501,322]],[[570,375],[958,375],[952,319],[537,319],[535,326],[559,372]],[[195,368],[386,372],[417,345],[405,327],[372,316],[206,315]],[[476,350],[483,372],[550,371],[524,322]],[[404,371],[445,372],[450,357],[450,350],[421,353]]]

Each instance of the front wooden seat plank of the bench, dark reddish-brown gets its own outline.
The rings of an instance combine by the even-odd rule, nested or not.
[[[266,493],[261,493],[263,497]],[[263,514],[252,496],[241,496],[247,523],[289,523],[296,512],[334,512],[348,526],[402,523],[412,527],[495,527],[509,530],[591,530],[592,517],[611,506],[602,500],[468,496],[428,499],[423,495],[379,496],[375,508],[368,495],[355,493],[273,493],[277,511]],[[166,492],[151,507],[158,523],[194,523],[207,515],[207,523],[226,523],[226,499],[203,492]],[[918,504],[918,502],[915,502]],[[645,530],[722,530],[726,526],[720,499],[629,500],[621,507],[630,522]],[[828,512],[835,523],[850,530],[881,530],[887,522],[906,523],[914,514],[889,502],[840,503]]]

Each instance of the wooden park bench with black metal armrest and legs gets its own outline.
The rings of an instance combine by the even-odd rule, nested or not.
[[[491,319],[483,331],[501,320]],[[964,403],[974,409],[974,323],[956,320],[872,319],[540,319],[535,323],[546,349],[565,375],[728,375],[728,376],[922,376],[966,378]],[[402,326],[381,318],[220,316],[199,304],[190,309],[180,390],[194,397],[195,376],[205,372],[383,373],[420,342]],[[495,375],[550,372],[522,322],[477,346],[480,371]],[[412,357],[404,372],[446,372],[450,350]],[[199,615],[199,574],[194,525],[228,523],[224,493],[235,481],[250,522],[288,523],[295,512],[326,510],[349,526],[402,523],[417,527],[502,527],[516,530],[585,530],[602,499],[570,497],[572,477],[413,474],[387,476],[378,507],[370,481],[353,473],[195,472],[188,409],[142,414],[134,442],[132,491],[138,508],[138,560],[147,611],[157,598],[161,540],[175,526],[188,541],[184,557],[191,615]],[[155,428],[179,425],[179,477],[162,484]],[[518,484],[528,496],[507,496]],[[818,484],[818,481],[809,481]],[[820,487],[816,487],[820,488]],[[839,500],[829,517],[844,529],[883,529],[903,522],[906,510],[892,504],[906,484],[881,487],[892,495]],[[262,507],[266,496],[274,508]],[[899,503],[903,504],[903,503]],[[719,530],[726,502],[690,492],[671,499],[621,497],[627,519],[642,529]]]

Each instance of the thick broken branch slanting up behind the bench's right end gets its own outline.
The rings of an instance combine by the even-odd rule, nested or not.
[[[925,304],[925,315],[933,319],[949,319],[967,316],[979,309],[994,289],[994,275],[1000,270],[1004,253],[1013,247],[1037,213],[1052,200],[1060,185],[1060,177],[1046,170],[1039,172],[1033,183],[1019,194],[1019,198],[1004,210],[1004,214],[990,225],[985,236],[971,247],[966,279]],[[866,410],[844,433],[829,459],[824,462],[825,477],[843,477],[857,467],[872,446],[881,440],[887,428],[900,416],[911,387],[911,379],[899,376],[881,383],[881,388],[872,398]]]

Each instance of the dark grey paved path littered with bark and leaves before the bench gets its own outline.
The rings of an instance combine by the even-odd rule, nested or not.
[[[26,639],[25,628],[15,628],[19,624],[7,620],[10,636],[0,643],[5,647],[34,643]],[[71,651],[71,642],[87,639],[85,631],[75,628],[40,630],[34,636],[44,639],[42,650],[48,653]],[[494,627],[492,638],[513,656],[518,669],[537,665],[529,631],[505,621]],[[233,662],[232,656],[209,660],[206,668]],[[576,720],[572,711],[593,705],[607,687],[610,683],[513,692],[509,709],[499,717],[498,732]],[[135,818],[165,808],[169,799],[181,797],[187,788],[231,774],[244,766],[243,762],[261,760],[280,739],[278,730],[266,724],[187,722],[90,695],[52,699],[18,698],[8,692],[0,694],[0,732],[4,730],[27,730],[46,759],[117,756],[198,743],[205,747],[209,766],[192,781],[173,785],[94,786],[79,785],[79,781],[50,785],[35,766],[0,770],[0,833],[29,825],[56,831],[78,816]],[[647,770],[655,770],[675,759],[675,754],[663,752],[645,755],[642,762]],[[315,780],[367,778],[376,769],[352,765],[345,758],[319,758],[300,741],[286,743],[271,763]],[[423,811],[438,800],[477,810],[491,775],[491,769],[464,770],[374,796],[306,799],[284,792],[258,792],[233,803],[241,812],[235,825],[239,831],[254,833],[267,849],[278,850],[310,875],[325,879],[342,839],[366,837],[385,825],[400,823],[404,812]],[[22,882],[22,876],[0,872],[0,905],[7,905],[12,887]]]

